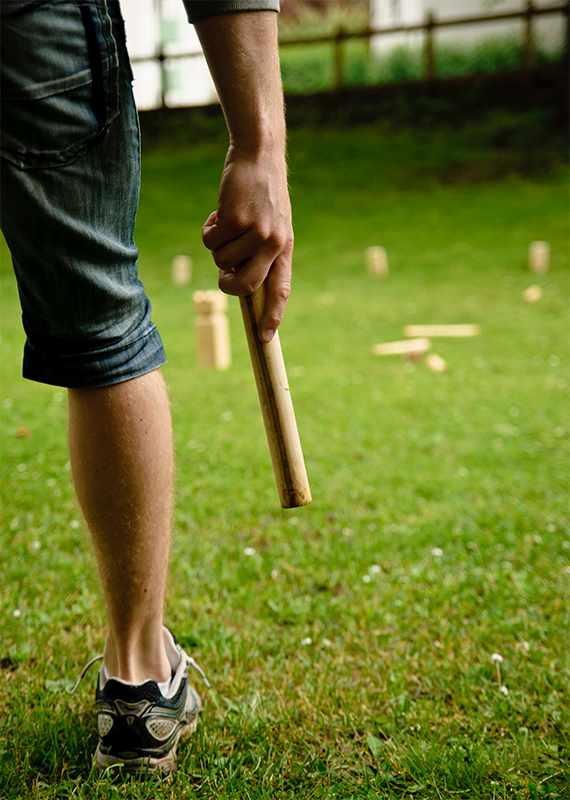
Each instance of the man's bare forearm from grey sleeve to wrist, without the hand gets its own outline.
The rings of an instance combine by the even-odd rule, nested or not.
[[[253,11],[195,24],[226,116],[231,144],[285,152],[277,14]]]

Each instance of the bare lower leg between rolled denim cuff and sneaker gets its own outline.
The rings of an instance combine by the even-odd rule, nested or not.
[[[70,389],[69,452],[109,617],[105,666],[130,683],[165,681],[162,612],[172,513],[172,425],[159,370]]]

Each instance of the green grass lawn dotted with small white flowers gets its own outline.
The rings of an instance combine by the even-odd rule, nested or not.
[[[2,798],[570,797],[570,170],[542,172],[535,148],[521,174],[529,160],[477,130],[291,134],[281,341],[314,497],[296,511],[279,508],[235,299],[232,368],[196,363],[223,144],[143,160],[140,271],[178,459],[167,620],[213,685],[166,784],[94,776],[95,670],[65,691],[104,609],[65,395],[20,378],[1,246]],[[535,239],[551,270],[527,306]],[[376,244],[384,281],[364,266]],[[180,252],[190,288],[170,284]],[[434,340],[442,374],[371,355],[422,322],[482,335]]]

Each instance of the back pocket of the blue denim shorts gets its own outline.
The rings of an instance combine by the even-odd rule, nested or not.
[[[104,0],[2,3],[0,156],[57,167],[94,147],[119,113],[118,73]]]

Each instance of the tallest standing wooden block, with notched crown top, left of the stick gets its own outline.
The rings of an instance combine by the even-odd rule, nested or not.
[[[232,363],[230,329],[225,311],[228,298],[222,292],[194,292],[194,306],[198,312],[198,363],[201,367],[228,369]]]

